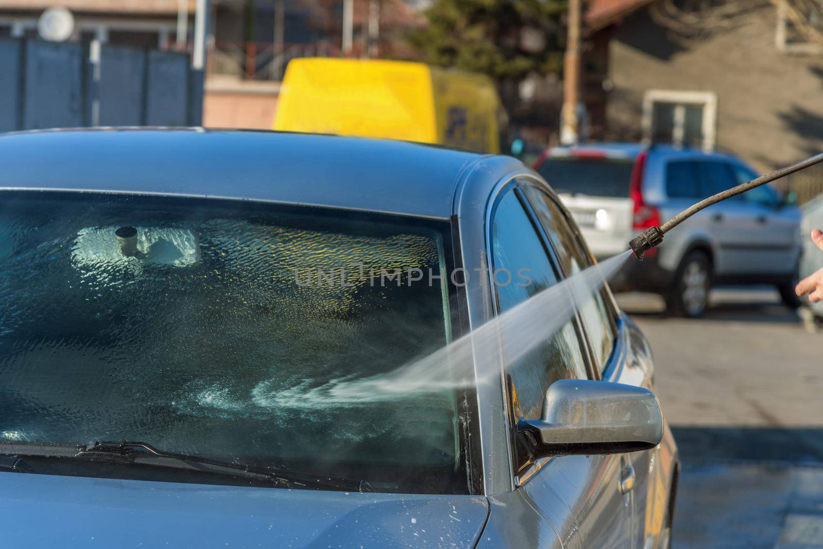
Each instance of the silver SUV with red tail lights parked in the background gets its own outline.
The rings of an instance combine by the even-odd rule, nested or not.
[[[636,233],[708,196],[756,178],[732,155],[666,145],[596,144],[544,151],[534,168],[560,194],[595,256],[625,251]],[[774,187],[713,205],[666,235],[616,289],[660,293],[667,309],[700,316],[712,284],[774,284],[789,307],[802,243],[800,211]]]

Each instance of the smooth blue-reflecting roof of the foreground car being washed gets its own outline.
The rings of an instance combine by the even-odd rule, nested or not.
[[[277,131],[82,128],[0,135],[0,189],[277,201],[448,218],[481,155]]]

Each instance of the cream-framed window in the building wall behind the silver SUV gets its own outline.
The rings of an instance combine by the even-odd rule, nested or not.
[[[644,137],[651,143],[713,150],[716,118],[713,92],[649,90],[644,96]]]

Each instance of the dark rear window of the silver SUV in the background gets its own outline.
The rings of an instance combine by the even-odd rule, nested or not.
[[[537,171],[559,193],[625,198],[633,165],[631,159],[553,157]]]

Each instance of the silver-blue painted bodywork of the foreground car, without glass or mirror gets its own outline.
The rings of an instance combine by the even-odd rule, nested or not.
[[[212,159],[215,155],[222,156]],[[235,157],[239,164],[224,165]],[[37,164],[38,158],[55,159],[65,169]],[[102,166],[92,168],[98,158],[104,159]],[[537,173],[510,157],[267,132],[29,132],[0,136],[0,159],[7,168],[0,173],[0,189],[222,196],[450,219],[454,266],[486,274],[469,276],[458,293],[456,314],[463,333],[495,317],[488,260],[491,204],[518,178],[545,186]],[[556,196],[550,187],[546,192]],[[603,379],[653,389],[648,343],[625,316],[619,328]],[[200,540],[208,546],[234,534],[226,541],[271,547],[288,542],[295,547],[341,542],[357,546],[364,541],[385,546],[426,539],[435,546],[455,542],[460,547],[478,540],[481,547],[639,549],[649,537],[659,539],[677,468],[677,449],[667,427],[663,442],[653,450],[543,459],[518,477],[500,353],[476,352],[474,359],[478,378],[490,381],[479,384],[476,392],[480,441],[472,444],[480,451],[472,470],[478,469],[480,479],[477,496],[346,494],[7,473],[0,505],[21,524],[32,516],[48,517],[35,523],[40,538],[27,547],[36,547],[36,542],[50,547],[58,540],[63,545],[74,539],[85,542],[86,536],[108,541],[115,534],[127,545],[133,540],[146,545]],[[623,496],[619,477],[628,465],[635,468],[637,480],[635,489]],[[421,537],[422,528],[431,537]],[[22,542],[27,531],[14,535]],[[61,532],[73,537],[59,537]],[[195,537],[183,539],[184,533]],[[122,540],[112,543],[124,545]]]

